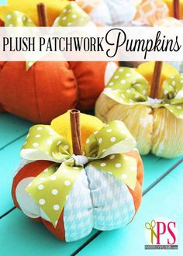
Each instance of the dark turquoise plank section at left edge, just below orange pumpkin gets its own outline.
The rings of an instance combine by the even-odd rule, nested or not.
[[[9,113],[0,115],[0,150],[25,135],[33,123]]]

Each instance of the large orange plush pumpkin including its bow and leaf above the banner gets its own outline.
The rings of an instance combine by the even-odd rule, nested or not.
[[[12,26],[12,22],[16,21],[15,26],[35,26],[33,22],[37,22],[35,18],[31,21],[22,12],[12,11],[16,5],[18,6],[17,2],[20,3],[16,1],[15,4],[15,1],[10,1],[10,6],[2,7],[0,10],[2,16],[6,13],[5,24]],[[27,13],[32,6],[33,8],[30,8],[30,11],[33,11],[31,18],[36,17],[36,2],[32,1],[24,6],[21,1],[18,7]],[[46,4],[47,2],[45,1]],[[77,26],[81,18],[84,18],[84,22],[81,22],[80,26],[94,26],[89,16],[75,2],[70,2],[65,6],[65,2],[60,1],[60,8],[57,9],[58,2],[53,1],[48,5],[48,11],[52,13],[51,10],[55,10],[51,18],[54,19],[63,7],[60,17],[67,16],[67,19],[71,19],[72,26]],[[5,12],[7,10],[11,12]],[[78,18],[72,18],[73,14]],[[55,26],[70,25],[64,19],[60,19],[60,24],[57,20],[54,23]],[[74,107],[85,112],[91,110],[104,88],[107,65],[107,62],[100,61],[40,61],[34,64],[29,62],[27,65],[25,62],[0,62],[0,109],[36,123],[50,123],[51,119]]]

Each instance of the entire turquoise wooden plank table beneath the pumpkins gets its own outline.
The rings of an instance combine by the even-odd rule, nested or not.
[[[41,223],[33,223],[12,202],[12,177],[19,150],[33,123],[9,114],[0,115],[0,255],[183,255],[183,158],[143,157],[143,202],[127,227],[108,232],[93,230],[85,239],[64,243]],[[177,251],[144,250],[144,223],[167,217],[178,226]]]

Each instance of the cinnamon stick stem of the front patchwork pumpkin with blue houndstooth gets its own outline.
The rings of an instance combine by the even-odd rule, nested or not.
[[[72,109],[70,112],[71,120],[71,136],[72,136],[72,147],[75,155],[81,155],[81,126],[80,126],[80,111]]]

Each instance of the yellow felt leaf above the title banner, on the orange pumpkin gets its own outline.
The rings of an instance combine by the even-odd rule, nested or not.
[[[64,9],[64,7],[69,3],[69,1],[64,0],[8,0],[7,6],[1,6],[0,19],[4,21],[4,16],[6,12],[19,11],[25,13],[26,16],[32,19],[33,22],[36,23],[36,25],[38,26],[39,23],[36,5],[40,2],[43,2],[47,6],[49,26],[53,25],[54,20],[57,18],[57,16],[60,15],[61,10]]]

